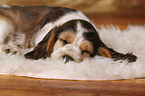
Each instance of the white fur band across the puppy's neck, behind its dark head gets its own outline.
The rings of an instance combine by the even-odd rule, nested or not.
[[[50,22],[50,23],[46,24],[40,30],[40,32],[38,32],[38,35],[35,39],[35,44],[38,44],[44,38],[44,36],[54,27],[60,26],[60,25],[64,24],[65,22],[68,22],[68,21],[74,20],[74,19],[81,19],[81,20],[86,20],[86,21],[90,22],[90,20],[80,11],[67,13],[64,16],[57,19],[55,22]]]

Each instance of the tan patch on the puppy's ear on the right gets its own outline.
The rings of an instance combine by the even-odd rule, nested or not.
[[[110,51],[106,47],[98,48],[98,53],[104,57],[112,58]]]

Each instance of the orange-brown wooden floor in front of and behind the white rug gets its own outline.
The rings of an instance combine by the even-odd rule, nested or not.
[[[113,24],[144,25],[144,17],[91,16],[100,27]],[[118,81],[67,81],[0,76],[0,96],[145,96],[145,79]]]

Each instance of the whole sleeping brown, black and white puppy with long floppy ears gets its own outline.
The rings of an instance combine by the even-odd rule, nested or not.
[[[132,54],[108,48],[96,26],[80,11],[47,6],[0,6],[0,44],[6,53],[34,49],[26,59],[65,59],[81,62],[100,55],[114,60],[136,61]]]

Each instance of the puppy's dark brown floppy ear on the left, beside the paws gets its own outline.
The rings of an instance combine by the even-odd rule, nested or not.
[[[55,33],[48,33],[44,39],[33,49],[33,51],[24,55],[25,58],[37,60],[50,56],[56,41],[55,36]]]

